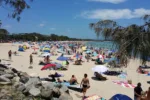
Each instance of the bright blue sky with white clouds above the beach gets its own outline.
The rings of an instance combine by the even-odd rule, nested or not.
[[[31,8],[21,14],[20,22],[7,17],[10,8],[0,7],[2,28],[10,33],[96,39],[89,23],[111,19],[121,26],[141,25],[141,17],[150,14],[150,0],[34,0],[29,4]]]

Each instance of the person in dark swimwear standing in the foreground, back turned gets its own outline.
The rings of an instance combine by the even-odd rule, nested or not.
[[[90,82],[89,82],[87,74],[84,74],[84,78],[82,79],[81,84],[80,84],[80,87],[81,86],[82,86],[83,98],[85,98],[86,91],[87,89],[90,88]]]

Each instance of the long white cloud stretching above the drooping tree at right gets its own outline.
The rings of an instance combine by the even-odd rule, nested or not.
[[[81,16],[87,19],[132,19],[140,18],[145,14],[150,14],[150,9],[98,9],[84,11]]]

